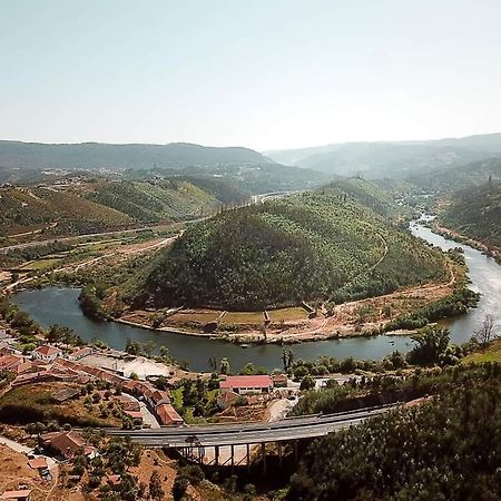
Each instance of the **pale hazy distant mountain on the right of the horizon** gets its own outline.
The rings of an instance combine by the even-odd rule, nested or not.
[[[346,143],[267,151],[275,161],[342,176],[406,178],[501,157],[501,134],[429,141]]]

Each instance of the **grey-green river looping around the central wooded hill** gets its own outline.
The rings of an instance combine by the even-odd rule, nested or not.
[[[446,250],[461,247],[470,268],[471,288],[480,292],[482,297],[475,310],[465,315],[444,322],[451,328],[452,341],[462,343],[479,328],[487,314],[501,322],[499,298],[501,297],[501,266],[494,259],[484,256],[466,245],[443,238],[419,223],[411,224],[411,232],[433,245]],[[250,345],[242,347],[237,344],[204,337],[187,336],[148,331],[118,324],[115,322],[94,322],[82,315],[78,304],[79,289],[68,287],[46,287],[38,291],[22,291],[13,297],[13,302],[43,327],[51,324],[67,325],[77,332],[84,341],[102,340],[109,346],[122,350],[127,340],[141,343],[153,341],[157,346],[165,345],[177,361],[187,361],[194,371],[207,371],[208,358],[228,357],[234,371],[247,362],[269,370],[282,366],[283,346],[274,344]],[[394,350],[407,352],[413,342],[407,336],[351,337],[287,345],[295,357],[304,360],[321,355],[345,358],[382,358]]]

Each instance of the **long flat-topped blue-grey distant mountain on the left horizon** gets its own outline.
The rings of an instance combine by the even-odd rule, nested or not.
[[[0,167],[65,169],[184,168],[190,166],[273,164],[248,148],[169,145],[108,145],[101,143],[46,145],[0,141]]]

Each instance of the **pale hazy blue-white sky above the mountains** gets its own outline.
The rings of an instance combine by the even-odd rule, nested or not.
[[[500,21],[499,0],[0,0],[0,138],[501,131]]]

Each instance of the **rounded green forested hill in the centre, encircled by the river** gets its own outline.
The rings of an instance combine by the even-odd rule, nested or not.
[[[443,273],[440,252],[334,187],[198,223],[122,293],[136,305],[256,310],[379,295]]]

